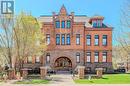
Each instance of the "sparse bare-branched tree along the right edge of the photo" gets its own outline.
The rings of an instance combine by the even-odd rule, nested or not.
[[[121,8],[121,32],[122,35],[118,36],[118,42],[122,47],[120,53],[122,54],[122,59],[125,59],[126,69],[129,68],[130,63],[130,0],[125,0],[123,7]]]

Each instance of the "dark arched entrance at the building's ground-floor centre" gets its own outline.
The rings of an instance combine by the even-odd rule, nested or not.
[[[70,71],[72,69],[72,62],[67,57],[59,57],[55,60],[54,67],[58,71]]]

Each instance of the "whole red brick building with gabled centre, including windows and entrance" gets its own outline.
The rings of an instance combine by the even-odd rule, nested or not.
[[[111,72],[112,27],[103,20],[102,16],[69,14],[64,6],[52,16],[40,16],[47,51],[40,60],[33,58],[33,63],[37,63],[33,67],[49,65],[54,70],[74,70],[83,65],[88,72],[99,67]]]

